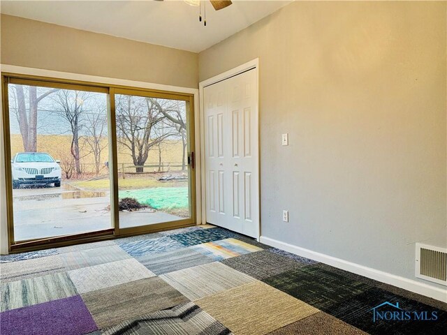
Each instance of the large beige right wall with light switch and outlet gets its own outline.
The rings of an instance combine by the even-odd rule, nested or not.
[[[200,80],[259,57],[263,236],[411,279],[447,247],[446,9],[299,1],[200,52]]]

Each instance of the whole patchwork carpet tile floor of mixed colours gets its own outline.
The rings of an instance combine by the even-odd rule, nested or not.
[[[212,225],[2,255],[0,293],[1,335],[447,334],[447,304]]]

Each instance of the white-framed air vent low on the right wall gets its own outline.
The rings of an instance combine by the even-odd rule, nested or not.
[[[447,249],[416,243],[416,277],[447,285]]]

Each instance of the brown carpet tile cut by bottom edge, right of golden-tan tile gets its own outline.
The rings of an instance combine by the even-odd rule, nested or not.
[[[338,320],[333,316],[324,312],[318,312],[304,318],[300,321],[293,322],[290,325],[274,330],[268,335],[366,335],[360,329],[348,325],[342,320]]]

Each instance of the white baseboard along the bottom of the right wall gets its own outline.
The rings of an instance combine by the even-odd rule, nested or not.
[[[409,278],[396,276],[395,274],[388,274],[388,272],[358,265],[356,263],[341,260],[323,253],[317,253],[316,251],[301,248],[300,246],[293,246],[292,244],[284,243],[276,239],[270,239],[269,237],[261,236],[260,241],[268,246],[274,246],[275,248],[288,251],[289,253],[295,253],[295,255],[310,258],[311,260],[316,260],[317,262],[323,262],[327,265],[331,265],[332,267],[353,272],[354,274],[360,274],[360,276],[365,276],[367,278],[374,279],[375,281],[394,285],[397,286],[397,288],[403,288],[404,290],[409,290],[411,292],[418,293],[419,295],[425,295],[426,297],[447,302],[447,289],[443,290],[442,288],[434,288],[431,285],[419,283],[418,281],[413,281]]]

